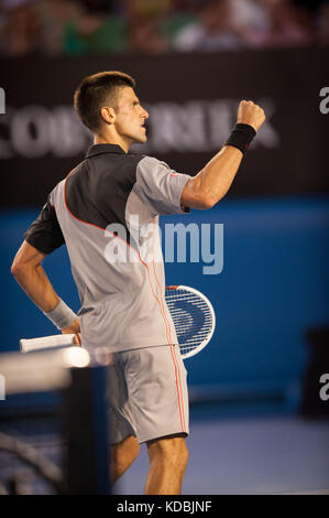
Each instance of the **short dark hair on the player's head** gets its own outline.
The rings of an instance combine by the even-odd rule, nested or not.
[[[85,77],[74,94],[74,107],[87,128],[99,130],[100,109],[107,102],[117,104],[118,89],[124,86],[135,87],[135,80],[123,72],[99,72]]]

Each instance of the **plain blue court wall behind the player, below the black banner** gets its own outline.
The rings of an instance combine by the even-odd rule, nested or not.
[[[1,219],[2,350],[21,337],[56,330],[10,274],[23,231],[36,211],[6,211]],[[164,223],[222,223],[223,270],[202,274],[202,263],[167,263],[167,284],[187,284],[213,303],[217,330],[208,347],[186,360],[189,384],[223,390],[292,387],[307,361],[305,331],[328,322],[328,199],[224,201]],[[46,258],[55,290],[74,310],[79,301],[65,247]]]

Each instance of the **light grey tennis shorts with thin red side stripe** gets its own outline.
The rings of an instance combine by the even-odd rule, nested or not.
[[[111,444],[189,433],[187,371],[177,345],[114,353],[109,367]]]

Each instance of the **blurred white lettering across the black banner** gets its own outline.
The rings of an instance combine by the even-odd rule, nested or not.
[[[217,152],[234,125],[238,105],[237,99],[145,104],[150,111],[149,140],[144,144],[134,144],[132,151],[144,154]],[[279,136],[270,121],[275,111],[274,101],[265,98],[260,105],[266,112],[266,121],[251,149],[277,148]],[[15,155],[36,159],[47,153],[70,158],[85,152],[91,144],[90,131],[78,120],[72,106],[29,105],[7,111],[0,119],[8,134],[3,138],[3,132],[0,133],[0,159]]]

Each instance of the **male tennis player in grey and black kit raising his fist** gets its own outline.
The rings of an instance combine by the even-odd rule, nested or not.
[[[158,215],[207,209],[221,199],[265,116],[252,101],[242,101],[222,150],[196,176],[178,174],[155,158],[129,152],[133,142],[146,141],[149,118],[134,87],[134,79],[120,72],[81,82],[75,109],[92,131],[94,145],[50,194],[11,271],[62,333],[75,333],[91,352],[106,346],[112,353],[112,481],[146,443],[145,494],[175,495],[188,458],[188,396],[164,299]],[[55,293],[42,267],[63,244],[80,296],[78,315]]]

